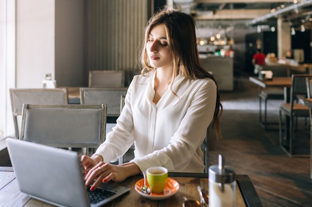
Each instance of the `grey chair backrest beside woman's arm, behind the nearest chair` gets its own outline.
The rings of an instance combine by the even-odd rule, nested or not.
[[[121,112],[121,96],[128,88],[80,88],[81,104],[106,104],[107,116],[118,117]]]

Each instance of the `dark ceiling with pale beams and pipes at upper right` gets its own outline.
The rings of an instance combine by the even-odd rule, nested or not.
[[[312,16],[312,0],[297,0],[297,3],[294,0],[175,0],[174,3],[187,9],[196,21],[213,21],[219,25],[226,25],[229,20],[236,26],[274,24],[278,16],[296,24]]]

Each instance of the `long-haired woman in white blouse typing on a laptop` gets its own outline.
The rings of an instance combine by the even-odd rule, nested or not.
[[[195,21],[190,15],[165,8],[150,19],[142,64],[142,74],[129,86],[116,127],[91,158],[81,157],[91,190],[101,182],[121,182],[151,166],[202,172],[200,144],[210,122],[221,136],[220,95],[214,77],[199,66]],[[109,164],[133,143],[134,160]]]

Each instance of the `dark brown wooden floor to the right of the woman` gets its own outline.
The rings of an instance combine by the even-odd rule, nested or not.
[[[263,130],[255,110],[258,88],[246,79],[241,79],[235,92],[221,92],[221,101],[226,100],[221,119],[223,138],[210,139],[209,164],[217,164],[218,154],[222,154],[237,174],[249,175],[264,207],[312,207],[310,157],[287,156],[279,146],[278,130]],[[270,104],[269,119],[278,121],[279,103]],[[305,123],[299,121],[296,138],[309,144]],[[310,153],[309,148],[298,151]]]

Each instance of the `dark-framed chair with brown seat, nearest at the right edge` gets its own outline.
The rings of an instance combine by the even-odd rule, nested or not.
[[[309,107],[304,104],[297,103],[297,96],[307,97],[306,78],[312,77],[311,74],[292,74],[292,86],[290,94],[290,103],[284,103],[280,107],[279,130],[280,130],[280,146],[289,155],[293,156],[293,138],[295,118],[309,117]],[[282,135],[282,115],[285,115],[285,138],[287,145],[283,142]]]

